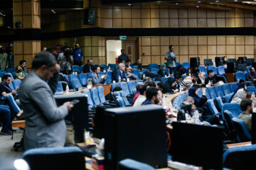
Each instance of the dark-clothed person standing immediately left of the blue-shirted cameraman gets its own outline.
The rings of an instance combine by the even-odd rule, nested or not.
[[[71,73],[71,65],[73,64],[73,52],[70,47],[63,47],[63,55],[58,56],[58,64],[60,64],[60,72],[63,74]]]

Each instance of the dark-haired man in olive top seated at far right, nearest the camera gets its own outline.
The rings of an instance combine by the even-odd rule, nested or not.
[[[240,103],[242,113],[238,115],[238,118],[245,123],[245,126],[249,132],[252,132],[252,101],[248,98],[242,99]]]

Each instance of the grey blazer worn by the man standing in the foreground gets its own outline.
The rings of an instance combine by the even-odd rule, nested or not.
[[[68,108],[57,107],[50,86],[33,72],[22,81],[18,96],[23,107],[26,128],[24,149],[37,147],[63,147]]]

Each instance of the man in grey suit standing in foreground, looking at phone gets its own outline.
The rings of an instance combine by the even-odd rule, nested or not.
[[[63,147],[65,144],[64,118],[73,105],[65,102],[58,107],[55,102],[53,90],[50,89],[50,78],[53,74],[58,74],[58,69],[60,67],[50,52],[40,52],[34,57],[31,72],[20,86],[18,96],[26,120],[23,135],[26,150],[38,147]],[[49,85],[46,83],[47,80]]]

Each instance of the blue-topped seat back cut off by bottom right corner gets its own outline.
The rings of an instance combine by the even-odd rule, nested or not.
[[[255,162],[256,145],[230,147],[223,154],[223,167],[226,169],[252,169]]]

